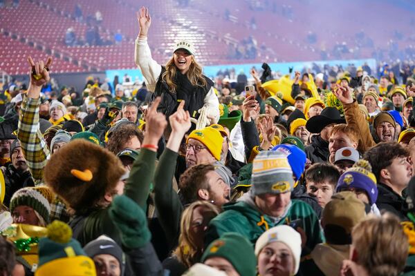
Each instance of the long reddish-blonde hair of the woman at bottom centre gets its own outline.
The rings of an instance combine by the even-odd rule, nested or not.
[[[208,201],[195,201],[183,210],[180,223],[180,236],[178,237],[178,246],[176,250],[174,250],[173,254],[176,255],[178,261],[186,267],[190,267],[196,264],[196,262],[199,262],[202,254],[203,248],[197,248],[194,238],[190,235],[193,211],[198,207],[205,207],[212,211],[212,213],[215,213],[216,215],[219,214],[219,208]]]

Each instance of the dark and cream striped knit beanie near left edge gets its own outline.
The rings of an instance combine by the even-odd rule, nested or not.
[[[46,223],[49,223],[50,202],[53,201],[53,193],[46,186],[27,187],[17,190],[10,200],[10,213],[17,206],[29,206],[33,208]]]

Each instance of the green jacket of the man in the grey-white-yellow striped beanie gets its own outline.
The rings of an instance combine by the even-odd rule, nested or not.
[[[250,239],[252,245],[255,246],[259,236],[266,230],[274,226],[289,224],[294,219],[302,219],[302,228],[307,235],[306,248],[303,248],[302,256],[308,255],[317,244],[323,242],[324,237],[320,230],[318,217],[305,202],[292,199],[286,214],[279,221],[274,221],[272,217],[259,213],[252,206],[252,199],[249,200],[248,197],[250,195],[246,194],[237,202],[225,204],[223,213],[210,221],[208,231],[205,234],[205,247],[226,232],[240,233]]]

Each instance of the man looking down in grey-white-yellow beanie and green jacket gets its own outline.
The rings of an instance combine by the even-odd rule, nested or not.
[[[280,150],[259,152],[252,163],[251,181],[249,193],[225,204],[223,212],[210,221],[205,245],[228,232],[239,233],[255,244],[269,228],[301,220],[296,230],[302,228],[306,235],[303,255],[313,250],[321,241],[320,224],[311,206],[291,199],[294,179],[287,154]]]

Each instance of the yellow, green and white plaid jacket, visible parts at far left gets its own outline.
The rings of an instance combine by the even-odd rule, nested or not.
[[[43,184],[43,169],[50,158],[50,151],[39,127],[40,99],[24,96],[21,102],[17,139],[21,144],[29,170],[35,180],[35,185]],[[50,221],[59,219],[68,221],[66,205],[59,197],[50,204]]]

